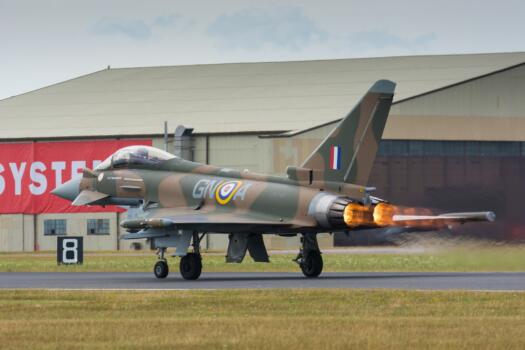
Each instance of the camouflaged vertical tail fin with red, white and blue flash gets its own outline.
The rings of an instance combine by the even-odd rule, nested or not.
[[[324,181],[366,186],[395,87],[377,81],[301,167],[322,171]]]

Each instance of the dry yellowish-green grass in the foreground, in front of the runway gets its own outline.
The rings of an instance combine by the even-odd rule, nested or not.
[[[2,349],[523,349],[525,294],[0,291]]]

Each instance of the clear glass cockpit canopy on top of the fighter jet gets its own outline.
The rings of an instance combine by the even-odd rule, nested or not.
[[[176,158],[171,153],[149,146],[129,146],[113,153],[95,170],[127,168],[133,165],[155,165]]]

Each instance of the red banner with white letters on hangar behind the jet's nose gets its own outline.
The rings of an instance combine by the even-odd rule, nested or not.
[[[151,140],[97,140],[0,143],[0,214],[84,213],[118,207],[73,207],[51,191],[95,168],[122,147],[151,145]]]

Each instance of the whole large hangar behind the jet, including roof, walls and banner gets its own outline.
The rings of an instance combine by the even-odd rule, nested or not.
[[[398,85],[370,180],[376,195],[437,210],[492,209],[496,223],[470,230],[523,239],[525,53],[495,53],[108,67],[1,100],[0,251],[52,250],[60,234],[85,236],[88,250],[132,248],[118,239],[118,221],[126,213],[70,213],[34,204],[59,181],[56,164],[73,168],[66,175],[79,168],[80,159],[51,165],[55,172],[46,173],[49,186],[39,193],[33,165],[45,168],[38,157],[47,157],[46,150],[60,156],[76,143],[92,150],[97,142],[134,140],[163,148],[168,121],[171,133],[177,125],[193,128],[175,142],[170,136],[171,152],[283,174],[383,78]],[[21,152],[19,163],[12,161],[14,149]],[[24,172],[23,163],[29,167],[31,161]],[[26,193],[24,208],[30,209],[12,210]],[[293,239],[266,239],[270,249],[298,246]],[[213,235],[206,242],[210,249],[225,244]],[[334,239],[325,235],[321,244],[332,246]]]

